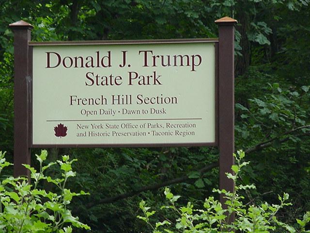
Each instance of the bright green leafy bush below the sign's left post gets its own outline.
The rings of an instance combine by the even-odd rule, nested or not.
[[[0,173],[9,162],[4,158],[5,153],[0,151]],[[69,156],[62,156],[62,161],[49,163],[44,166],[47,151],[42,150],[36,154],[40,163],[40,170],[24,165],[31,172],[33,184],[24,177],[8,177],[0,183],[0,232],[7,233],[71,233],[72,226],[90,229],[86,224],[78,221],[67,208],[75,196],[87,193],[71,192],[65,188],[68,178],[74,177]],[[62,178],[53,179],[45,175],[50,166],[60,165]],[[40,182],[53,183],[58,188],[58,193],[47,192],[38,188]]]

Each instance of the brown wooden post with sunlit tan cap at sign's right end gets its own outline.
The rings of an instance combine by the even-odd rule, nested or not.
[[[233,180],[227,172],[233,172],[234,164],[234,24],[237,20],[223,17],[215,21],[218,25],[218,147],[219,188],[234,190]],[[223,204],[225,199],[220,196]]]

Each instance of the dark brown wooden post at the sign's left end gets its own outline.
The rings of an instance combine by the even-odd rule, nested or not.
[[[14,176],[28,176],[30,165],[29,111],[31,62],[28,42],[33,26],[23,20],[10,24],[14,33]]]

